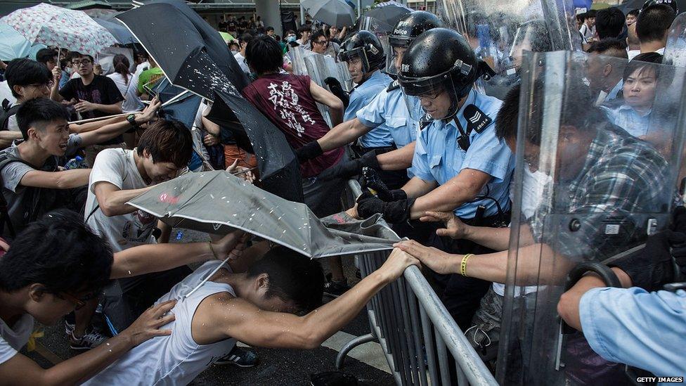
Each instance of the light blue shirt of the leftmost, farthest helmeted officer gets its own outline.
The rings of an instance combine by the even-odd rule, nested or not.
[[[350,103],[343,115],[344,121],[356,118],[357,112],[368,105],[375,96],[380,94],[391,83],[391,78],[381,71],[375,71],[369,79],[355,87],[350,93]],[[393,146],[391,129],[386,124],[380,124],[372,131],[361,136],[360,146],[363,148],[382,148]]]

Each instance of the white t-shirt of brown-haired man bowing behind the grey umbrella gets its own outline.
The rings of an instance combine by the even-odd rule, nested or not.
[[[122,191],[148,186],[136,167],[135,152],[136,149],[119,148],[101,151],[96,157],[89,179],[84,219],[94,232],[108,240],[114,252],[136,245],[155,243],[155,216],[137,210],[129,214],[107,217],[98,206],[95,195],[95,186],[98,182],[109,182]]]

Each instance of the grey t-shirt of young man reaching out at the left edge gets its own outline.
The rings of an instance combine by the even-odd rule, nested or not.
[[[69,141],[67,142],[67,150],[65,154],[70,155],[79,149],[82,142],[82,138],[79,134],[70,134]],[[20,157],[17,143],[13,143],[12,146],[4,150],[8,155],[12,157]],[[46,172],[56,172],[58,165],[57,157],[48,158],[45,162],[44,167],[41,170]],[[19,233],[22,229],[27,226],[29,215],[27,212],[22,210],[24,207],[24,200],[26,198],[27,188],[20,184],[21,179],[28,172],[38,170],[24,162],[9,162],[5,167],[0,170],[0,178],[2,179],[2,195],[7,202],[7,212],[12,221],[12,226],[15,233]],[[3,237],[8,237],[9,231],[7,227],[4,228]]]

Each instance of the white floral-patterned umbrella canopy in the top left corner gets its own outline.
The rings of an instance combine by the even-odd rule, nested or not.
[[[117,43],[108,30],[82,11],[38,4],[21,8],[0,22],[10,25],[28,41],[95,55]]]

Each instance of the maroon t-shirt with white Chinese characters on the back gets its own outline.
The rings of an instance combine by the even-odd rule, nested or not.
[[[243,95],[276,124],[292,148],[320,139],[329,131],[310,94],[307,75],[263,75],[243,89]],[[303,177],[316,176],[343,157],[344,148],[330,150],[300,164]]]

